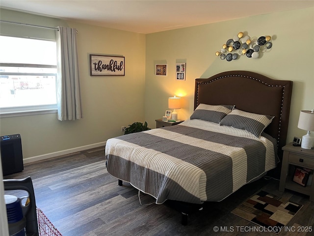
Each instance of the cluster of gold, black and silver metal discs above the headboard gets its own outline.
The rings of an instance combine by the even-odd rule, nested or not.
[[[250,37],[244,35],[243,32],[239,32],[233,38],[230,38],[222,45],[222,48],[215,54],[220,59],[227,61],[236,60],[246,55],[247,58],[258,59],[261,53],[269,51],[273,44],[271,42],[271,36]]]

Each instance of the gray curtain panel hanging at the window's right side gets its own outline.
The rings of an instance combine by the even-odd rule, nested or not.
[[[78,78],[77,30],[58,26],[57,108],[59,120],[82,118]]]

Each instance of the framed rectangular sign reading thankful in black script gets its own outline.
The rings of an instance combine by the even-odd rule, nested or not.
[[[90,75],[124,76],[124,57],[90,54]]]

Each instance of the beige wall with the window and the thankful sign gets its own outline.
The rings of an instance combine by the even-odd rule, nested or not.
[[[24,158],[102,143],[108,138],[122,135],[121,126],[144,121],[144,34],[64,22],[3,9],[1,19],[50,27],[62,25],[78,30],[83,118],[59,121],[56,114],[1,118],[1,136],[21,134]],[[124,56],[125,76],[91,77],[90,53]]]

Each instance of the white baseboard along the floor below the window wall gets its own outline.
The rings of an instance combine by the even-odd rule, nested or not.
[[[51,152],[51,153],[39,155],[39,156],[27,157],[27,158],[23,159],[23,162],[24,163],[30,163],[30,162],[34,162],[34,161],[45,160],[48,158],[66,155],[66,154],[70,154],[70,153],[77,152],[77,151],[87,150],[90,148],[103,147],[105,145],[106,145],[106,142],[101,142],[101,143],[90,144],[90,145],[81,146],[81,147],[77,147],[77,148],[70,148],[70,149],[66,149],[66,150],[62,150],[62,151],[56,151],[56,152]]]

